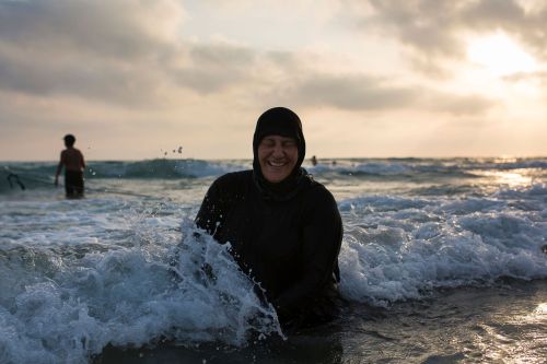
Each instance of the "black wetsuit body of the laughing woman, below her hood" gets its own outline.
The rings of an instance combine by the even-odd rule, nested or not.
[[[266,291],[282,324],[302,326],[336,315],[342,225],[331,193],[301,171],[283,198],[263,190],[253,171],[218,178],[196,224],[231,244],[240,267]]]

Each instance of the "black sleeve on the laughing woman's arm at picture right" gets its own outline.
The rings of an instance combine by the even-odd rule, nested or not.
[[[317,297],[338,267],[342,239],[340,213],[329,191],[323,187],[315,190],[319,193],[312,196],[313,208],[306,209],[302,234],[303,274],[274,302],[281,315],[302,309]]]

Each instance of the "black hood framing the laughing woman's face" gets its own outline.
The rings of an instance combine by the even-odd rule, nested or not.
[[[280,183],[268,181],[261,172],[258,161],[258,144],[267,136],[281,136],[296,140],[299,157],[291,174]],[[286,201],[293,198],[300,190],[311,184],[311,176],[301,167],[306,153],[306,142],[299,116],[286,108],[274,107],[266,110],[256,121],[253,136],[253,172],[255,184],[264,198],[276,201]]]

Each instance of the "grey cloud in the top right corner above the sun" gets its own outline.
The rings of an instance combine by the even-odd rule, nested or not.
[[[427,64],[423,59],[439,60],[435,67],[430,61],[430,67],[422,68],[426,70],[439,71],[445,58],[465,56],[462,32],[503,31],[536,57],[547,59],[546,4],[526,10],[515,0],[369,0],[366,3],[372,14],[358,21],[361,26],[366,32],[398,39],[418,55],[417,64]]]

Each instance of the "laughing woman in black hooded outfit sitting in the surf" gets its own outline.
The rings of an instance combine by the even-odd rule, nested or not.
[[[230,242],[241,269],[264,289],[286,328],[338,315],[342,223],[333,195],[301,167],[302,124],[284,107],[265,111],[253,137],[253,169],[207,191],[198,227]]]

